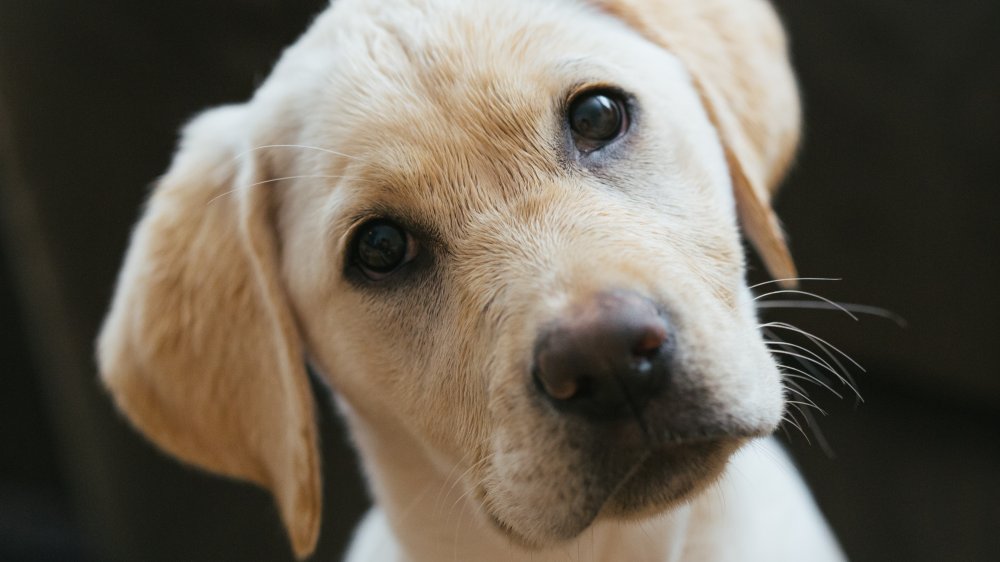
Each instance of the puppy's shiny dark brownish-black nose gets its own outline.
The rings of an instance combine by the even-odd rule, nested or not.
[[[599,293],[538,338],[535,382],[556,407],[590,419],[638,415],[663,391],[674,338],[649,299]]]

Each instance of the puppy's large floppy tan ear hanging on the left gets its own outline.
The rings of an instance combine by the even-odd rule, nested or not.
[[[314,405],[277,274],[269,184],[237,135],[247,112],[216,109],[188,127],[132,235],[98,360],[149,439],[268,489],[305,557],[320,520]]]

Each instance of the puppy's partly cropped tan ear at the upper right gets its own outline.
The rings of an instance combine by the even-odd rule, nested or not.
[[[784,32],[766,0],[590,0],[687,68],[722,141],[744,234],[775,279],[797,276],[771,195],[798,145]]]

